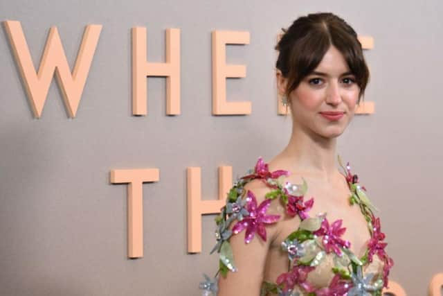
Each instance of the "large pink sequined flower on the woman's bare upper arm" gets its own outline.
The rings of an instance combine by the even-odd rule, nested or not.
[[[243,220],[238,221],[233,227],[233,233],[238,234],[246,228],[246,234],[244,235],[244,242],[250,243],[254,238],[255,232],[266,241],[266,229],[264,229],[265,224],[272,224],[280,219],[280,215],[266,215],[266,211],[271,204],[271,200],[264,200],[257,207],[257,200],[255,199],[254,193],[249,191],[246,193],[246,210],[248,210],[249,216],[243,218]]]

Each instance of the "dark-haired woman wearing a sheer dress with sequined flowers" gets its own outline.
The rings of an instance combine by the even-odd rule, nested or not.
[[[336,152],[369,80],[361,44],[332,13],[300,17],[283,31],[276,78],[291,138],[230,190],[216,220],[217,279],[201,288],[219,296],[381,295],[393,265],[385,235]]]

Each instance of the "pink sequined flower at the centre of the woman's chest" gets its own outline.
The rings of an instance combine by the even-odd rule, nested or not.
[[[349,241],[344,241],[340,238],[340,236],[343,236],[346,231],[346,227],[341,228],[342,222],[343,220],[341,219],[336,220],[329,226],[329,222],[327,221],[327,218],[325,218],[321,223],[320,229],[314,232],[317,236],[323,236],[322,242],[327,253],[333,250],[338,256],[341,256],[342,252],[340,247],[349,248],[351,246]]]

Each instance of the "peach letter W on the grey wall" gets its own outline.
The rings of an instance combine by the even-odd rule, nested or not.
[[[93,55],[96,51],[102,26],[88,25],[84,29],[82,44],[75,61],[74,71],[71,74],[57,27],[51,27],[49,30],[37,73],[20,22],[4,21],[4,25],[14,51],[15,60],[19,66],[21,78],[24,80],[26,93],[33,108],[34,116],[37,118],[42,116],[49,85],[51,85],[55,72],[58,85],[62,90],[64,105],[68,110],[69,116],[74,118],[82,97]]]

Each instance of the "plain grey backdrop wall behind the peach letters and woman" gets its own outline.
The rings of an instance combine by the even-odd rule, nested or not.
[[[433,1],[0,1],[0,20],[21,21],[35,67],[57,26],[71,69],[84,26],[102,24],[82,101],[68,119],[53,80],[41,119],[31,113],[12,51],[0,34],[0,295],[199,295],[213,274],[214,216],[203,253],[186,250],[186,168],[201,166],[204,198],[217,167],[234,175],[269,160],[289,139],[277,115],[275,36],[308,12],[331,11],[374,37],[366,51],[375,114],[356,116],[338,151],[381,209],[392,280],[424,295],[443,272],[443,2]],[[181,115],[165,116],[165,79],[149,78],[147,116],[131,116],[131,36],[147,27],[152,62],[163,62],[165,28],[181,29]],[[249,31],[227,61],[247,65],[228,80],[248,116],[211,115],[210,32]],[[126,186],[112,168],[157,167],[143,186],[145,257],[127,259]]]

